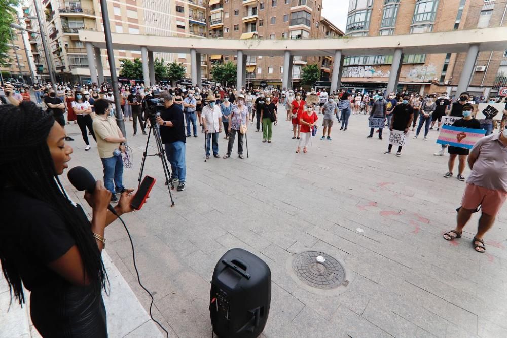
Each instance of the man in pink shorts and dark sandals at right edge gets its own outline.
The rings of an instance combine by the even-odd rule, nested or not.
[[[485,252],[484,234],[493,226],[496,214],[507,198],[507,129],[480,139],[468,156],[472,173],[458,211],[456,229],[444,234],[452,241],[460,238],[466,222],[479,206],[482,215],[472,245],[477,252]]]

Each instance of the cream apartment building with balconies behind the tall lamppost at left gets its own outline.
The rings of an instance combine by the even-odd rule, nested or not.
[[[29,0],[26,15],[36,15],[33,1],[41,5],[45,39],[49,47],[50,61],[56,71],[57,81],[90,81],[88,59],[84,43],[79,40],[81,29],[104,31],[100,3],[92,0]],[[205,37],[206,7],[203,0],[111,0],[107,10],[113,33],[149,34],[159,36]],[[32,21],[32,25],[37,21]],[[40,28],[39,28],[40,29]],[[36,35],[36,34],[34,34]],[[32,36],[30,44],[34,59],[44,62],[40,36]],[[38,51],[42,54],[38,54]],[[140,58],[140,50],[115,50],[115,65],[120,72],[121,59]],[[182,62],[190,72],[190,57],[186,54],[154,53],[155,58],[165,62]],[[104,77],[110,78],[105,50],[101,51]],[[40,73],[47,79],[47,69]],[[207,64],[202,65],[202,74],[207,76]]]

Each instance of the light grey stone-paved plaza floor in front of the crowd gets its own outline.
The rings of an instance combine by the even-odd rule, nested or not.
[[[262,143],[249,125],[244,160],[233,151],[230,159],[205,163],[204,134],[188,138],[187,188],[173,191],[173,208],[161,163],[148,158],[144,173],[157,179],[149,203],[123,218],[141,281],[155,298],[154,317],[171,337],[211,336],[211,275],[234,247],[255,253],[271,268],[264,337],[507,336],[507,213],[500,212],[486,235],[485,254],[470,244],[477,214],[463,238],[442,238],[455,226],[464,183],[443,177],[448,155],[433,156],[439,149],[436,131],[428,141],[410,138],[402,157],[384,155],[387,137],[367,139],[367,116],[353,115],[347,131],[339,131],[335,120],[332,141],[320,140],[320,127],[309,153],[296,154],[284,115],[279,112],[271,144]],[[132,122],[126,124],[133,167],[125,169],[124,183],[135,187],[146,136],[132,137]],[[78,126],[66,129],[76,139],[70,167],[83,165],[101,179],[95,143],[85,152]],[[222,138],[220,155],[227,145]],[[86,205],[82,193],[78,197]],[[108,255],[148,310],[150,299],[137,284],[121,223],[109,226],[105,237]],[[287,262],[305,250],[343,263],[344,292],[296,282]]]

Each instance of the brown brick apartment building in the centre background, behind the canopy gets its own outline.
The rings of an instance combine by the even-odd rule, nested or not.
[[[215,39],[316,39],[343,35],[322,18],[322,0],[210,0],[207,16],[208,36]],[[322,63],[323,59],[295,56],[293,84],[298,85],[302,67]],[[235,62],[236,56],[210,55],[208,60],[211,65]],[[283,57],[247,55],[246,62],[247,84],[281,86]],[[323,63],[322,69],[329,74],[330,64]],[[329,79],[329,75],[324,79]]]

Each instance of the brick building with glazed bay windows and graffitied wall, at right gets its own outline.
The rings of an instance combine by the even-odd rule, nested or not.
[[[414,34],[414,39],[417,39],[418,33],[494,27],[492,24],[499,25],[506,5],[505,2],[496,3],[495,0],[350,0],[346,36]],[[496,54],[493,56],[500,58]],[[398,90],[451,92],[459,82],[459,69],[465,57],[466,53],[457,55],[445,51],[442,54],[406,54]],[[489,59],[489,53],[481,53],[478,63],[484,59]],[[341,86],[385,89],[391,61],[390,55],[346,57]],[[492,65],[497,68],[496,63],[490,63]],[[496,69],[491,70],[482,81],[484,71],[481,67],[476,68],[473,84],[479,83],[491,89]],[[485,90],[470,89],[477,95]]]

